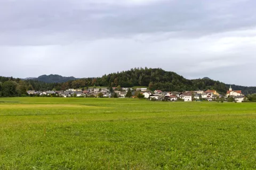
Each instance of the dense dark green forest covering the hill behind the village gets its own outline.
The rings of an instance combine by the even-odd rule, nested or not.
[[[188,80],[177,73],[162,69],[134,68],[103,75],[101,78],[83,78],[62,83],[46,83],[38,80],[21,80],[0,77],[0,96],[21,96],[26,90],[66,90],[69,88],[86,88],[90,86],[133,87],[147,86],[150,90],[186,91],[186,90],[217,90],[226,94],[229,84],[211,79]],[[233,90],[242,90],[243,94],[256,93],[256,87],[232,85]]]

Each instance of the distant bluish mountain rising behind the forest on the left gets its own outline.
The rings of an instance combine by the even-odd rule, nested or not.
[[[45,83],[63,83],[63,82],[67,82],[70,80],[77,80],[77,78],[75,77],[62,77],[61,75],[58,74],[50,74],[50,75],[41,75],[36,79],[33,80],[38,80],[38,81],[42,81]]]

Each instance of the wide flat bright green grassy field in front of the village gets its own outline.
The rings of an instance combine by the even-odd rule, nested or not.
[[[0,98],[0,169],[255,169],[256,104]]]

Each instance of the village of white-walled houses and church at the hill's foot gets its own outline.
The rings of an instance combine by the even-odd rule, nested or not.
[[[127,96],[127,92],[131,91],[131,96]],[[150,91],[147,88],[88,88],[88,89],[68,89],[66,91],[35,91],[28,90],[30,96],[58,96],[58,97],[96,97],[96,98],[110,98],[110,97],[132,97],[137,98],[140,94],[141,98],[150,100],[162,100],[162,101],[227,101],[231,98],[231,101],[242,103],[246,100],[246,96],[242,94],[241,90],[233,90],[230,86],[226,95],[220,95],[216,90],[198,90],[198,91]]]

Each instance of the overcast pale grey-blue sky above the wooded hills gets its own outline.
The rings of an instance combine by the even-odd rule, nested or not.
[[[256,86],[254,0],[0,0],[0,75],[134,67]]]

